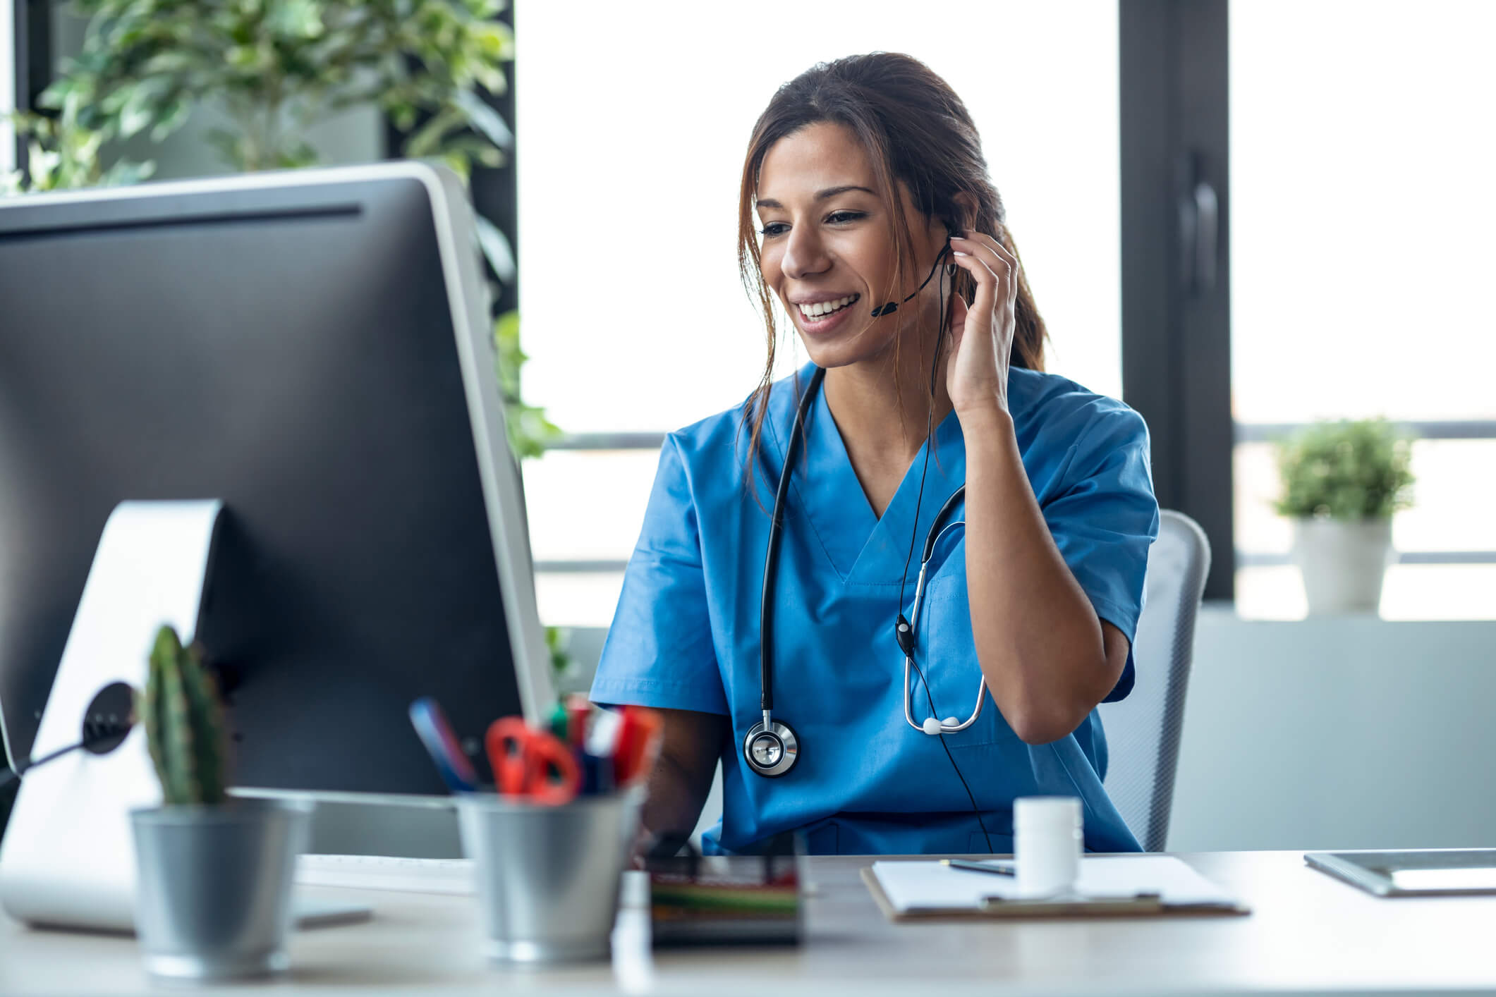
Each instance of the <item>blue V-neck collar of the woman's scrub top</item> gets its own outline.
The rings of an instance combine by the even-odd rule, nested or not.
[[[802,390],[814,371],[814,365],[800,371]],[[782,419],[782,430],[775,433],[779,460],[784,460],[784,442],[797,407],[793,390],[785,396],[788,414]],[[935,427],[935,451],[929,456],[923,498],[920,472],[929,441],[914,454],[881,517],[874,514],[868,493],[853,471],[847,445],[826,404],[824,386],[806,414],[805,433],[806,459],[796,460],[790,484],[826,558],[847,584],[898,584],[911,532],[917,546],[939,507],[966,480],[966,447],[956,413],[947,413]],[[919,523],[914,522],[916,505]],[[917,565],[911,562],[910,574],[916,572]]]

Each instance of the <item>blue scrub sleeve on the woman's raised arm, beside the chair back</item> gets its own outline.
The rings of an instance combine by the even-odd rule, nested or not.
[[[1147,549],[1158,537],[1158,499],[1147,425],[1131,408],[1092,420],[1074,444],[1065,481],[1044,504],[1055,546],[1097,616],[1128,638],[1126,665],[1104,703],[1132,691],[1131,643],[1143,610]]]

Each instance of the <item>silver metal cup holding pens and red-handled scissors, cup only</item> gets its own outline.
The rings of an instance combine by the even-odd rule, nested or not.
[[[565,806],[495,794],[458,798],[462,851],[473,859],[489,958],[607,958],[642,795],[636,788]]]

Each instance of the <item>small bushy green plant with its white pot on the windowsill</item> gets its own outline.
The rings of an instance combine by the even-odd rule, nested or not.
[[[1376,611],[1393,513],[1412,505],[1412,441],[1384,419],[1315,423],[1278,444],[1293,561],[1310,614]]]

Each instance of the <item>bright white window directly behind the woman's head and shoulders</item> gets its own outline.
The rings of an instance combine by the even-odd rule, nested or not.
[[[738,278],[752,124],[817,61],[923,60],[977,121],[1035,302],[1049,369],[1121,395],[1115,0],[669,3],[516,9],[525,396],[576,441],[527,463],[540,614],[606,626],[637,540],[658,435],[739,404],[763,323]],[[585,70],[585,72],[583,72]],[[781,329],[790,327],[781,318]],[[782,371],[803,363],[793,333]],[[793,348],[791,348],[793,347]],[[621,448],[618,433],[643,433]]]

